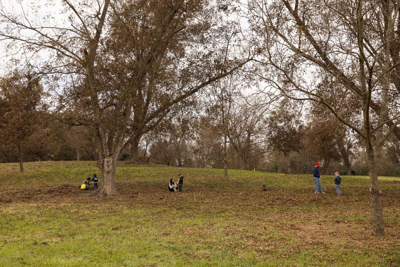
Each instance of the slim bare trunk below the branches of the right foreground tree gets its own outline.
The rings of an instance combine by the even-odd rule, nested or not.
[[[370,169],[370,193],[372,197],[372,227],[376,236],[384,235],[382,192],[378,184],[378,163],[373,151],[367,151],[368,165]]]

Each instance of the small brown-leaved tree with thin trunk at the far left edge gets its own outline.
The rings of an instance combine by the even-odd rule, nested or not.
[[[39,78],[14,72],[0,81],[0,139],[18,150],[20,172],[28,147],[40,143],[48,118],[44,92]]]

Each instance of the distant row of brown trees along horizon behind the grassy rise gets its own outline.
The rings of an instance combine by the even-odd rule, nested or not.
[[[30,86],[30,80],[25,82]],[[33,99],[22,100],[20,92],[14,92],[26,105],[31,104],[30,108],[23,107],[10,92],[6,94],[7,90],[2,90],[9,97],[0,98],[4,103],[2,114],[11,113],[4,108],[10,110],[12,103],[15,108],[26,109],[26,114],[18,112],[21,118],[3,116],[10,122],[8,127],[2,124],[3,129],[26,130],[17,139],[8,139],[2,144],[0,162],[19,162],[23,171],[22,158],[24,161],[97,161],[99,147],[94,129],[68,125],[54,117],[48,104],[43,106],[48,94],[38,80],[34,82],[41,95],[31,94]],[[27,90],[21,84],[16,87]],[[202,110],[182,108],[169,121],[143,135],[137,150],[128,145],[119,160],[286,174],[310,173],[319,161],[325,175],[336,171],[341,175],[368,175],[363,143],[352,130],[319,106],[312,105],[302,111],[300,103],[285,100],[277,106],[259,106],[246,102],[249,100],[239,94],[239,88],[229,90],[229,104],[225,103],[224,109],[226,122],[221,120],[221,104],[216,94],[213,98],[203,94]],[[17,124],[20,128],[15,127],[16,121],[20,121]],[[3,135],[14,135],[4,130],[0,131]],[[380,175],[400,176],[398,139],[391,138],[386,143],[380,165]]]

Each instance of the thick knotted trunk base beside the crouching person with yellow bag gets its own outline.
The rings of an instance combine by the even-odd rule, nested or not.
[[[107,157],[97,162],[97,167],[99,167],[102,173],[102,179],[96,197],[112,197],[119,195],[115,187],[115,171],[117,168],[117,162],[116,159],[111,157]]]

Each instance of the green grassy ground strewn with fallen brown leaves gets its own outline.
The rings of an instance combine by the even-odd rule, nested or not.
[[[81,191],[94,162],[0,164],[0,266],[397,266],[400,178],[380,177],[386,235],[371,235],[368,177],[121,163],[120,197]],[[167,190],[184,178],[184,193]],[[262,186],[266,186],[266,191]]]

